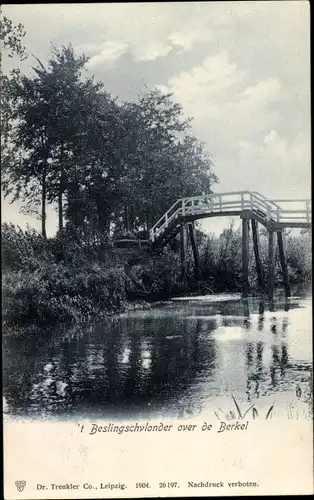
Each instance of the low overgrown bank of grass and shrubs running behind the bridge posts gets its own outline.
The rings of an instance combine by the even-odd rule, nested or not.
[[[198,240],[201,277],[198,282],[195,280],[189,253],[188,279],[183,285],[175,242],[172,249],[165,248],[156,254],[139,249],[119,251],[109,238],[84,245],[70,231],[62,237],[45,239],[34,230],[22,231],[3,224],[3,320],[6,325],[25,327],[92,321],[134,307],[143,299],[240,291],[239,231],[231,227],[220,237],[199,233]],[[310,243],[308,234],[287,238],[292,283],[311,279]],[[263,238],[261,256],[267,274],[267,241]],[[254,293],[258,287],[254,257],[251,257],[250,282]],[[277,286],[281,280],[277,266]]]

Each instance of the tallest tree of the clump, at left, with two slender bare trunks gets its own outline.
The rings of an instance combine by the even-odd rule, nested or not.
[[[59,230],[63,229],[64,193],[92,107],[86,103],[93,102],[100,88],[93,79],[82,81],[86,62],[71,46],[54,47],[47,67],[37,60],[35,75],[23,75],[10,88],[15,154],[5,169],[6,194],[29,202],[36,198],[34,193],[41,193],[44,236],[47,201],[57,202]]]

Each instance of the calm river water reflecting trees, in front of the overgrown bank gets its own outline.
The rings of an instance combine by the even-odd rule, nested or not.
[[[84,330],[7,336],[4,413],[225,419],[254,404],[263,418],[271,406],[271,417],[311,418],[311,311],[308,295],[273,303],[212,295]]]

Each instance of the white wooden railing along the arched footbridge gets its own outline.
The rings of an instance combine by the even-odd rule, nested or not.
[[[288,208],[283,205],[289,203]],[[296,204],[301,203],[297,207]],[[291,204],[295,206],[292,207]],[[268,221],[311,222],[310,200],[269,200],[256,191],[236,191],[177,200],[150,230],[150,239],[155,241],[179,217],[205,214],[240,214],[245,210],[257,212]]]

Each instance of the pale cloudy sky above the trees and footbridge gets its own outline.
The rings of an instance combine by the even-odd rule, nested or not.
[[[310,10],[305,0],[3,5],[45,61],[71,43],[88,71],[121,99],[171,91],[205,141],[216,192],[310,198]],[[31,72],[30,55],[20,64]],[[8,69],[8,68],[7,68]],[[4,71],[6,68],[4,68]],[[2,200],[2,220],[39,228]],[[210,232],[229,221],[208,219]],[[56,213],[48,210],[48,235]]]

